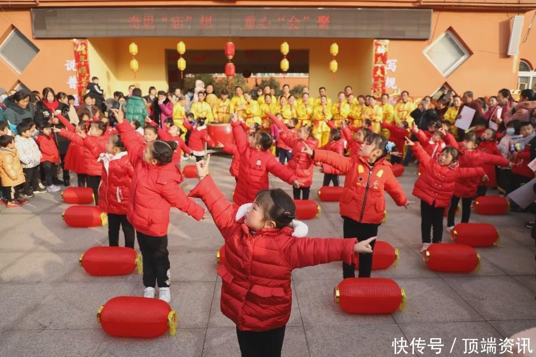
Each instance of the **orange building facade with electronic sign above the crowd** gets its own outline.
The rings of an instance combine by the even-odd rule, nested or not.
[[[183,41],[187,47],[187,74],[196,73],[196,68],[203,65],[212,71],[204,73],[224,72],[227,60],[223,51],[228,41],[234,42],[237,52],[243,51],[244,63],[253,56],[253,52],[266,53],[262,61],[249,57],[249,64],[242,64],[242,67],[237,64],[237,73],[242,70],[274,72],[282,58],[279,45],[287,41],[291,50],[288,55],[289,72],[294,71],[293,65],[299,67],[298,72],[307,71],[311,92],[316,94],[317,88],[324,86],[331,97],[336,97],[346,85],[351,85],[354,93],[370,94],[373,84],[379,84],[382,91],[391,94],[408,90],[414,96],[432,95],[446,86],[457,93],[472,90],[477,96],[493,95],[501,88],[517,89],[519,76],[531,77],[532,65],[536,65],[536,34],[530,31],[536,2],[523,0],[463,0],[456,3],[309,0],[294,1],[293,7],[286,9],[282,6],[288,6],[288,2],[269,0],[11,0],[0,1],[0,5],[4,9],[0,17],[0,87],[6,89],[27,87],[40,90],[50,86],[56,91],[76,94],[79,73],[73,38],[87,40],[89,73],[100,78],[101,87],[107,93],[114,90],[126,92],[131,84],[139,86],[144,92],[151,85],[167,89],[176,80],[169,64],[170,61],[176,62],[178,41]],[[132,25],[135,18],[129,12],[132,7],[136,7],[139,13],[136,16],[138,28]],[[334,11],[328,24],[321,22],[318,12],[318,9],[326,7]],[[272,8],[273,11],[266,10],[268,12],[264,13],[261,8]],[[211,13],[211,9],[215,11],[215,15],[211,16],[214,31],[201,31],[199,26],[202,23],[198,16],[204,15],[199,15],[196,9],[204,9],[207,14]],[[232,31],[229,35],[218,32],[218,26],[227,26],[218,22],[218,14],[221,10],[233,12],[233,9],[236,13],[245,11],[244,15],[236,17],[238,20],[230,20],[228,27]],[[97,10],[100,12],[92,12]],[[190,10],[191,15],[188,15]],[[255,16],[245,15],[249,10],[255,10]],[[190,24],[184,27],[184,31],[177,28],[171,33],[167,26],[178,26],[177,11],[184,14],[180,16],[181,26],[188,21]],[[338,24],[336,19],[342,13],[340,11],[347,12],[350,17],[347,22]],[[121,12],[124,16],[117,16],[114,24],[115,14]],[[169,18],[162,13],[169,13]],[[67,21],[62,20],[62,16],[69,14],[73,20],[66,25]],[[354,14],[372,20],[367,24],[356,18],[355,22],[361,26],[349,26]],[[515,16],[518,16],[515,20],[523,20],[523,24],[519,27],[520,33],[513,36],[512,46],[510,37]],[[149,21],[146,18],[150,17],[152,25],[149,22],[149,27],[144,28]],[[174,25],[172,18],[175,19]],[[280,24],[274,25],[283,18],[285,20]],[[291,21],[293,18],[294,22]],[[268,22],[275,28],[264,29]],[[252,29],[255,35],[245,31],[247,26],[255,27]],[[322,26],[329,26],[329,31],[323,33]],[[295,29],[299,31],[293,32]],[[518,46],[515,45],[516,38]],[[375,65],[378,58],[375,40],[379,39],[389,40],[383,42],[386,52],[382,54],[380,72]],[[132,56],[128,48],[131,42],[135,42],[139,49],[136,75],[129,66]],[[330,45],[334,42],[339,45],[336,56],[338,71],[331,73],[329,63],[333,56]],[[18,52],[20,43],[24,43],[24,49]],[[517,54],[508,55],[509,47],[510,53]],[[215,51],[221,51],[221,57],[213,55]],[[293,63],[293,51],[300,51],[307,57],[296,56]],[[173,53],[174,56],[170,55]],[[188,57],[189,54],[191,57]],[[524,67],[523,73],[519,72],[520,61],[528,66]],[[260,62],[272,65],[261,65]],[[218,71],[219,68],[221,70]],[[536,72],[534,75],[536,77]],[[379,83],[378,79],[381,79]],[[532,78],[528,82],[521,81],[524,87],[536,85],[536,78],[534,82]]]

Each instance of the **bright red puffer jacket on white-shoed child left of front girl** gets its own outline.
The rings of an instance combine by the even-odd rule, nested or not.
[[[128,121],[116,126],[121,140],[129,153],[133,166],[126,218],[136,231],[149,236],[161,237],[167,234],[169,210],[172,206],[200,221],[205,210],[190,200],[178,184],[182,181],[180,169],[173,162],[165,165],[151,165],[143,161],[143,143]]]

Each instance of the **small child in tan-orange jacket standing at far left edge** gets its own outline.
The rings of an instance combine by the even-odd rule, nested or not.
[[[19,188],[25,182],[23,166],[20,163],[11,135],[0,136],[0,183],[7,208],[20,207],[28,203],[20,198]]]

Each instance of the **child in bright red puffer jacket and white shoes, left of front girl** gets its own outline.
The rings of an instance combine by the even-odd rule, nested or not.
[[[133,166],[126,217],[136,230],[142,251],[144,297],[154,298],[154,286],[158,284],[159,299],[169,302],[169,210],[177,207],[197,221],[203,218],[205,210],[178,187],[182,182],[181,170],[172,162],[176,143],[155,140],[145,146],[137,139],[130,123],[124,120],[123,111],[112,111]]]

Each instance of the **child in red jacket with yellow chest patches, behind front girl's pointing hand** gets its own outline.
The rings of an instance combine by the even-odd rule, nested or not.
[[[394,143],[383,136],[371,133],[360,147],[359,155],[344,157],[331,151],[311,150],[303,146],[303,152],[314,161],[330,164],[346,173],[341,195],[340,215],[344,219],[345,238],[357,237],[359,241],[375,237],[385,211],[384,191],[391,195],[398,206],[407,208],[412,203],[394,177],[392,165],[385,156]],[[374,249],[374,244],[372,244]],[[370,277],[372,254],[360,254],[359,277]],[[355,277],[355,264],[343,263],[343,278]]]

